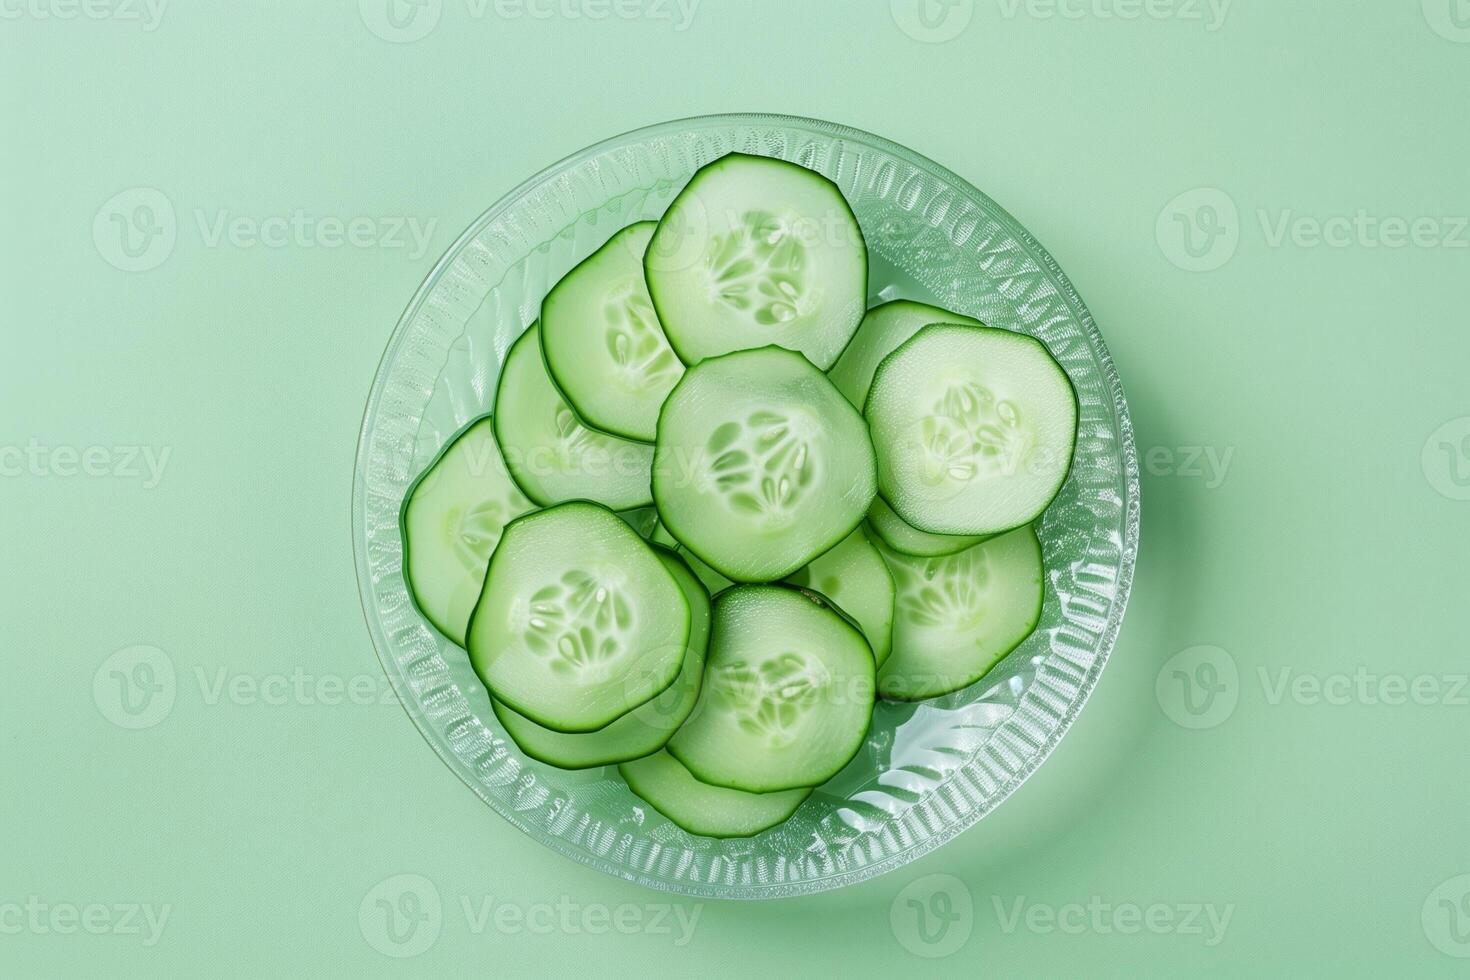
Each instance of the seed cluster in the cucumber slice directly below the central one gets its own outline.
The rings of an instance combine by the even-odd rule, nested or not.
[[[711,693],[745,732],[772,748],[791,745],[797,721],[817,702],[831,676],[816,660],[795,651],[751,666],[723,664],[710,677]]]

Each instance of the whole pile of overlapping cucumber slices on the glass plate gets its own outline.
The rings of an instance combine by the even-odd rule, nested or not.
[[[401,516],[415,604],[528,757],[756,835],[878,698],[966,688],[1035,629],[1067,375],[867,288],[835,184],[729,154],[547,294]]]

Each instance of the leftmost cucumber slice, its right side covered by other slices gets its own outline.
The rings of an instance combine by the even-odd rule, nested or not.
[[[506,472],[490,416],[451,435],[409,486],[398,517],[409,598],[459,646],[500,532],[531,510]]]

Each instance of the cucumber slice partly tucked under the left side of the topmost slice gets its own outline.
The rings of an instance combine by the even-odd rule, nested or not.
[[[587,426],[642,442],[653,442],[659,407],[684,373],[644,285],[653,229],[622,229],[541,303],[541,348],[567,404]]]

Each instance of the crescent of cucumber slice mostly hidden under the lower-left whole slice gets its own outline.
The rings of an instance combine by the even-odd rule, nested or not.
[[[498,701],[495,717],[520,751],[534,760],[562,768],[612,765],[657,752],[679,730],[694,710],[704,679],[704,654],[710,641],[710,597],[688,566],[672,551],[657,550],[659,560],[678,580],[689,602],[689,646],[678,679],[653,701],[641,704],[606,729],[587,735],[564,735],[542,727]]]

